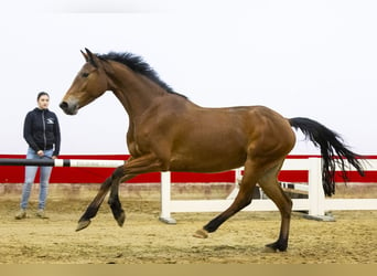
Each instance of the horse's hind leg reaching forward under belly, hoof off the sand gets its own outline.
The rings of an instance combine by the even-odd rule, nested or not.
[[[251,163],[251,161],[249,163]],[[235,201],[226,211],[208,222],[202,230],[196,231],[194,234],[195,237],[207,237],[207,233],[215,232],[231,215],[251,203],[252,192],[258,179],[257,171],[259,170],[246,162],[245,173]]]

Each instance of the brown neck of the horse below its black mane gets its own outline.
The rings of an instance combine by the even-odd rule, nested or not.
[[[118,66],[111,78],[112,92],[130,117],[143,113],[165,93],[158,84],[123,66]]]

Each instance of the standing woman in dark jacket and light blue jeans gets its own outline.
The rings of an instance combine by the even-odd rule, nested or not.
[[[57,158],[61,149],[61,130],[58,120],[56,115],[49,110],[50,96],[47,93],[39,93],[36,102],[37,107],[28,113],[23,126],[23,137],[29,145],[26,159],[55,159]],[[25,181],[22,188],[20,204],[21,210],[15,215],[17,220],[26,217],[26,208],[37,168],[39,167],[36,166],[25,167]],[[40,197],[36,216],[47,219],[44,209],[52,167],[40,168]]]

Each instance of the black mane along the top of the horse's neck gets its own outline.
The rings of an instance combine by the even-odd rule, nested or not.
[[[164,88],[168,93],[176,94],[182,97],[185,97],[173,91],[166,83],[161,81],[159,74],[139,55],[132,53],[117,53],[109,52],[108,54],[96,54],[101,60],[110,60],[115,62],[119,62],[125,64],[127,67],[131,68],[133,72],[137,72],[141,75],[147,76],[149,79],[153,81],[162,88]]]

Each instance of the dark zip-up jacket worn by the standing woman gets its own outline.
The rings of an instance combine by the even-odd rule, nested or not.
[[[53,149],[53,156],[61,150],[61,129],[56,115],[49,109],[35,108],[28,113],[23,125],[23,138],[35,151]]]

